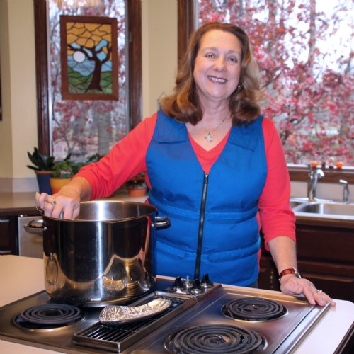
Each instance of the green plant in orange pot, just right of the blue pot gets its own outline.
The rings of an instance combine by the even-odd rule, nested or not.
[[[75,173],[79,172],[84,162],[76,162],[70,159],[70,154],[62,161],[57,161],[53,167],[53,176],[50,178],[52,193],[59,192],[60,188],[66,185]]]

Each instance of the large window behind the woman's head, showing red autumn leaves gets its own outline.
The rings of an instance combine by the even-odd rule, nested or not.
[[[267,96],[263,111],[278,126],[288,163],[324,158],[328,164],[333,157],[354,166],[351,1],[335,1],[333,8],[316,0],[179,3],[181,16],[194,10],[197,25],[222,21],[246,29]]]

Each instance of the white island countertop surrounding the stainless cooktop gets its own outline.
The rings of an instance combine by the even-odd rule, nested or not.
[[[43,279],[44,270],[41,259],[0,256],[0,306],[42,291],[44,289]],[[334,353],[354,321],[354,304],[343,300],[336,300],[336,302],[336,308],[331,308],[324,314],[295,353]],[[57,353],[1,340],[0,352],[7,354]]]

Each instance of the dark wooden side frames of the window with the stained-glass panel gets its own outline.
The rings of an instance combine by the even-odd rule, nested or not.
[[[48,55],[47,55],[47,4],[46,0],[33,0],[35,18],[35,72],[37,91],[38,149],[50,154],[50,110]],[[126,1],[129,123],[135,127],[142,120],[142,4],[141,0]]]

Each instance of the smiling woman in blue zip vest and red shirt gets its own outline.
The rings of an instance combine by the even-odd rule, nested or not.
[[[157,273],[209,273],[215,282],[254,286],[259,229],[285,294],[335,303],[298,278],[290,180],[273,122],[261,99],[249,38],[207,23],[190,40],[175,92],[108,156],[86,166],[55,195],[37,195],[45,215],[72,219],[80,200],[111,195],[147,171],[149,202],[171,227],[157,233]]]

